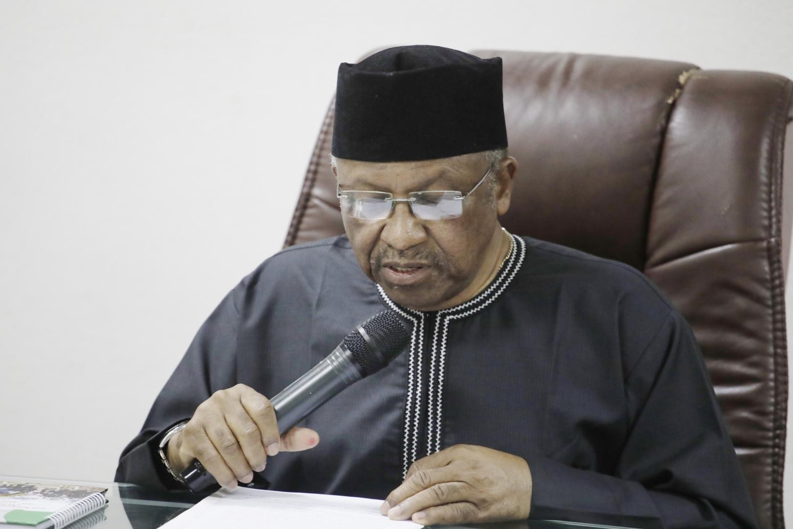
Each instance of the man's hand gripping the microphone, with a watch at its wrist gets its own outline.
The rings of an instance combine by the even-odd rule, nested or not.
[[[221,389],[202,402],[185,428],[168,441],[167,456],[176,473],[194,459],[220,485],[233,489],[261,472],[267,456],[279,451],[307,450],[320,442],[309,428],[293,427],[278,433],[273,405],[247,385]]]

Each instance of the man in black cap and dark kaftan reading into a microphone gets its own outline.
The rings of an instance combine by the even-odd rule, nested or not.
[[[410,46],[343,63],[347,236],[228,294],[117,481],[177,488],[198,459],[231,488],[262,472],[425,525],[757,527],[688,324],[630,266],[502,229],[506,148],[500,59]],[[279,439],[266,396],[384,308],[411,325],[408,351]]]

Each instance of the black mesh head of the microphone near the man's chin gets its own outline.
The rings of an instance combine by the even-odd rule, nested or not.
[[[410,335],[404,328],[402,320],[393,310],[384,310],[366,320],[361,327],[372,343],[374,349],[366,339],[355,329],[344,338],[344,346],[350,350],[353,358],[363,368],[364,376],[375,374],[383,369],[400,354],[407,345]]]

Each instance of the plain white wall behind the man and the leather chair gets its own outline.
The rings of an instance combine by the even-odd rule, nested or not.
[[[422,43],[793,78],[791,21],[789,0],[0,0],[0,474],[112,479],[281,247],[339,62]]]

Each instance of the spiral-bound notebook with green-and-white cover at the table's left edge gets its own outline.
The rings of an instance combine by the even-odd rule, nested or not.
[[[107,504],[107,489],[0,481],[0,524],[60,529]]]

